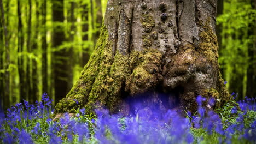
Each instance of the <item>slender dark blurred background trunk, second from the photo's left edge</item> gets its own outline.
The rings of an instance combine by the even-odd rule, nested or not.
[[[17,13],[18,13],[18,53],[19,55],[24,52],[24,33],[23,33],[23,25],[21,19],[21,4],[20,0],[17,0]],[[27,99],[26,92],[26,79],[25,79],[25,64],[24,64],[24,56],[20,55],[18,57],[18,71],[20,78],[20,100]]]

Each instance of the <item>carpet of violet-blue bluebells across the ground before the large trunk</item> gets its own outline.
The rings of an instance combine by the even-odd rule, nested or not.
[[[213,139],[209,137],[219,143],[256,142],[254,98],[230,101],[231,106],[218,113],[210,109],[213,98],[199,95],[196,115],[188,111],[186,117],[174,110],[150,118],[147,113],[110,115],[108,110],[96,110],[93,115],[83,108],[57,120],[50,118],[52,101],[44,93],[36,105],[24,100],[11,106],[6,115],[0,112],[0,143],[200,143]],[[206,102],[207,107],[203,106]]]

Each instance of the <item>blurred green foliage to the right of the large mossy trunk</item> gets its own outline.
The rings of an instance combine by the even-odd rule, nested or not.
[[[217,24],[222,25],[219,64],[229,91],[236,91],[243,97],[246,95],[248,67],[255,63],[248,56],[249,49],[253,49],[255,20],[256,10],[248,0],[224,1],[223,15],[217,18]]]

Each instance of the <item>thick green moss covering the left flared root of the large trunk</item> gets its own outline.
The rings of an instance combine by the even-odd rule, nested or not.
[[[97,41],[95,50],[92,53],[88,64],[85,65],[79,80],[67,94],[66,98],[63,98],[57,103],[55,112],[68,112],[71,109],[83,107],[88,103],[89,94],[95,85],[97,85],[97,82],[95,83],[95,81],[102,79],[104,75],[101,75],[101,73],[106,71],[108,65],[113,61],[111,46],[112,44],[108,41],[108,31],[103,25],[100,39]],[[73,99],[77,99],[79,105],[77,105]]]

